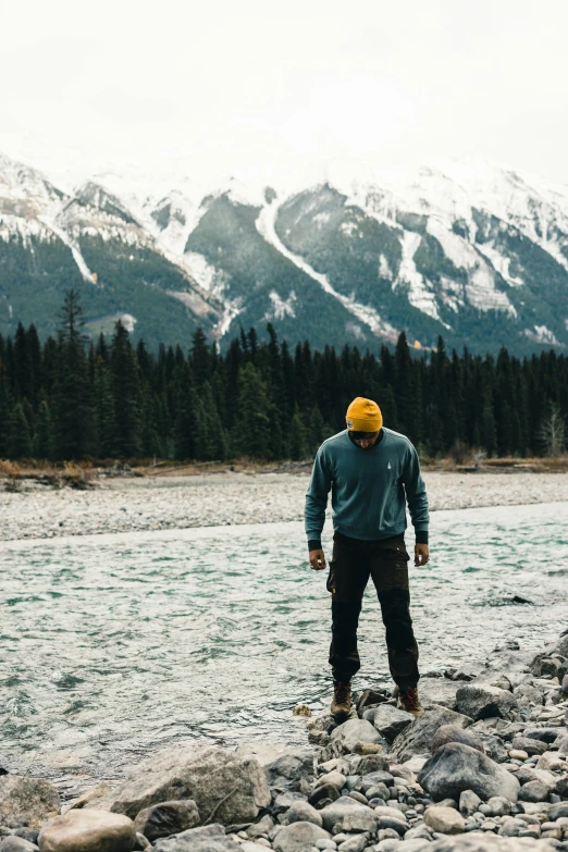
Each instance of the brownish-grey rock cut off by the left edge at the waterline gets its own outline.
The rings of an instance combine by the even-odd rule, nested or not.
[[[59,793],[45,778],[0,776],[0,823],[27,820],[40,828],[59,812]]]

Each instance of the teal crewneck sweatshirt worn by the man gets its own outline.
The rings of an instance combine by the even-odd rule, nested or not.
[[[333,528],[366,541],[400,535],[406,503],[418,541],[428,542],[428,497],[418,454],[399,432],[383,427],[382,440],[358,447],[347,430],[323,442],[306,492],[306,534],[319,541],[332,492]]]

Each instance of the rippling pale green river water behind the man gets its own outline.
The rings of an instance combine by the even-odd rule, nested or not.
[[[567,503],[433,513],[431,563],[411,569],[422,670],[566,628],[567,530]],[[0,560],[11,771],[71,794],[178,740],[304,743],[292,708],[330,699],[325,572],[310,570],[300,523],[4,542]],[[371,590],[356,688],[388,681]]]

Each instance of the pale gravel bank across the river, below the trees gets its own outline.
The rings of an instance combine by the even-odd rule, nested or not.
[[[94,481],[85,491],[0,480],[0,541],[300,521],[308,478],[224,471]],[[434,511],[568,502],[568,473],[425,471],[424,480]]]

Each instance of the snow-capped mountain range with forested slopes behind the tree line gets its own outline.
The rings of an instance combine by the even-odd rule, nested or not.
[[[106,172],[72,193],[0,157],[0,333],[53,331],[81,289],[92,332],[223,341],[272,322],[376,350],[568,347],[568,187],[480,160],[380,175],[332,163],[304,187],[207,190]]]

